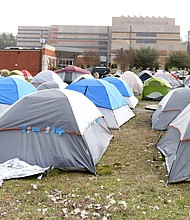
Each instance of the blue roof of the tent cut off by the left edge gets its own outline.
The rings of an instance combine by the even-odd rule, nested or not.
[[[12,105],[21,97],[36,91],[27,81],[13,77],[0,78],[0,104]]]

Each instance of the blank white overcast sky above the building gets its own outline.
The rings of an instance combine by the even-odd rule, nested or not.
[[[181,38],[190,30],[188,0],[9,0],[1,1],[0,33],[16,35],[18,26],[111,26],[112,17],[175,18]]]

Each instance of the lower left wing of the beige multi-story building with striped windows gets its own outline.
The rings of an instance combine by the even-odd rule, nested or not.
[[[40,47],[41,42],[54,46],[60,66],[73,64],[81,53],[94,52],[107,61],[110,53],[109,26],[51,25],[19,26],[17,46]]]

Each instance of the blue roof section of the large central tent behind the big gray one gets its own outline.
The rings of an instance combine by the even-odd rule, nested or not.
[[[84,94],[97,107],[114,110],[127,104],[119,90],[103,79],[82,79],[71,83],[66,89]]]

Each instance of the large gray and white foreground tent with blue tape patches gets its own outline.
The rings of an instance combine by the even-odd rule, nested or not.
[[[83,94],[42,90],[23,97],[0,118],[0,163],[19,158],[42,168],[96,173],[111,139],[101,112]]]

